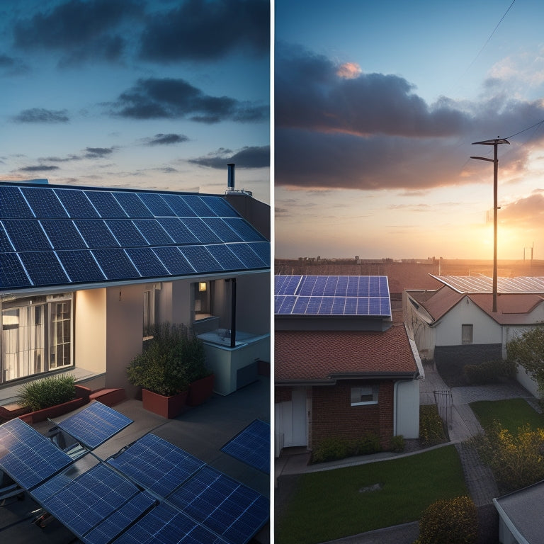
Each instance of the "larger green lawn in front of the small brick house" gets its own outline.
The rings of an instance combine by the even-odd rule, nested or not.
[[[382,489],[361,492],[375,484]],[[468,491],[454,446],[312,472],[300,476],[289,504],[283,505],[276,544],[321,543],[416,521],[429,504],[463,494]]]

